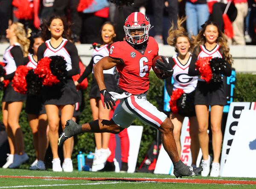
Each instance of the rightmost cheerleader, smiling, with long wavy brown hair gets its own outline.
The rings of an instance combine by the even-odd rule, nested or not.
[[[229,53],[227,39],[216,23],[207,21],[204,24],[203,29],[199,32],[196,40],[198,45],[193,51],[193,56],[195,56],[195,58],[199,59],[212,56],[212,58],[219,57],[224,58],[227,61],[227,66],[223,73],[224,77],[221,82],[210,82],[207,84],[205,80],[199,78],[195,90],[195,113],[199,126],[199,143],[203,153],[201,162],[203,171],[201,172],[201,175],[206,177],[210,172],[211,157],[209,156],[209,135],[207,129],[209,106],[211,106],[210,122],[212,130],[213,161],[210,176],[218,177],[222,144],[221,119],[223,107],[227,104],[227,94],[225,93],[225,87],[227,85],[226,76],[231,75],[232,58]],[[189,75],[199,75],[199,71],[195,68],[195,62],[189,65]]]

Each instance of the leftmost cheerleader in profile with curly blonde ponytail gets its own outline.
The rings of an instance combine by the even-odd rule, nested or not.
[[[28,55],[29,39],[26,37],[26,31],[21,23],[10,25],[6,30],[6,38],[10,41],[10,46],[3,54],[6,75],[1,77],[0,81],[2,82],[4,79],[10,81],[3,91],[2,99],[3,124],[6,127],[10,154],[3,168],[17,168],[29,159],[24,152],[23,134],[19,125],[20,112],[26,96],[14,90],[12,78],[16,68],[23,65],[23,55]]]

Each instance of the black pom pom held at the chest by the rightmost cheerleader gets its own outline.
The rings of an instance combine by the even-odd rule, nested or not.
[[[212,82],[221,83],[223,79],[224,69],[227,67],[227,62],[223,58],[213,58],[210,61],[212,68]]]

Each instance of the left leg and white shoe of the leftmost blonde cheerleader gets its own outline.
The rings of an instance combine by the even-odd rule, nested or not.
[[[2,103],[2,112],[3,112],[3,125],[6,128],[7,138],[8,138],[9,147],[10,147],[9,157],[7,158],[6,164],[3,166],[3,168],[7,168],[13,162],[13,155],[15,152],[15,148],[14,148],[14,135],[12,134],[11,127],[8,126],[8,109],[7,109],[6,102]]]

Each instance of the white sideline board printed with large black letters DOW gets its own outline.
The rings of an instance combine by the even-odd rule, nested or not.
[[[227,156],[229,155],[231,145],[233,145],[233,139],[238,127],[242,110],[249,110],[250,102],[231,102],[229,113],[227,116],[227,124],[224,133],[224,139],[222,144],[221,152],[221,170],[220,175],[222,175]],[[242,126],[243,127],[243,126]]]

